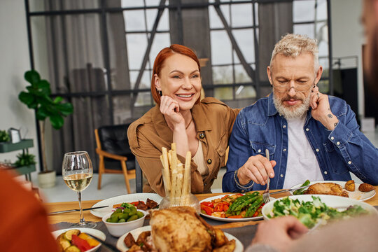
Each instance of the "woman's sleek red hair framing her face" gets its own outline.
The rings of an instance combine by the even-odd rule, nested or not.
[[[198,65],[198,71],[201,72],[200,61],[198,60],[197,55],[195,55],[195,52],[193,52],[193,50],[186,47],[185,45],[173,44],[167,48],[162,49],[158,53],[158,56],[156,56],[155,62],[153,62],[153,74],[151,78],[151,94],[153,96],[153,100],[159,105],[160,105],[160,94],[158,93],[158,90],[155,87],[155,73],[158,76],[160,76],[160,71],[162,71],[162,67],[164,66],[165,59],[174,55],[175,53],[186,55],[192,58]],[[198,102],[200,102],[200,98],[197,100],[196,103]]]

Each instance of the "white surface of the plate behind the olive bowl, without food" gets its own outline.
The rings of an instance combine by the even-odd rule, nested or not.
[[[160,204],[162,197],[156,193],[132,193],[128,195],[120,195],[116,197],[111,197],[109,199],[97,202],[96,204],[92,206],[92,207],[101,207],[101,206],[109,206],[109,207],[90,210],[90,214],[93,214],[94,216],[102,218],[104,217],[104,215],[109,214],[113,210],[114,204],[120,204],[124,202],[131,203],[131,202],[136,202],[138,200],[144,201],[146,203],[147,199],[153,200],[155,202],[158,202],[158,204]]]

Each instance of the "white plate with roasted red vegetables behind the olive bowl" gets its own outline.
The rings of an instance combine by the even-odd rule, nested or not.
[[[162,197],[156,193],[132,193],[128,195],[120,195],[97,202],[92,207],[109,207],[104,207],[102,209],[93,209],[90,211],[90,214],[102,218],[104,217],[104,215],[109,214],[113,209],[121,207],[122,203],[134,204],[137,209],[146,211],[148,209],[158,207],[161,201]]]

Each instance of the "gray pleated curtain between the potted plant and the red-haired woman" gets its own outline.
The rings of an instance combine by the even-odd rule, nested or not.
[[[45,0],[46,10],[99,8],[99,4],[100,1],[93,0]],[[106,1],[106,4],[119,7],[120,0]],[[107,34],[99,13],[45,17],[52,93],[73,94],[69,98],[73,115],[65,119],[62,130],[52,130],[53,167],[58,173],[63,155],[69,151],[87,151],[97,171],[94,129],[113,124],[109,108],[113,107],[113,111],[118,106],[130,109],[127,102],[113,104],[109,95],[97,93],[130,88],[123,14],[109,14],[106,19]],[[104,50],[109,50],[109,59],[105,58]],[[106,62],[109,62],[110,72],[106,70]]]

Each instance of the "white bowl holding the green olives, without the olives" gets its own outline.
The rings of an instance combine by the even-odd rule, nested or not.
[[[113,235],[114,237],[120,237],[121,235],[125,234],[126,232],[130,232],[131,230],[134,230],[136,228],[141,228],[144,223],[144,218],[146,218],[146,215],[148,214],[146,211],[137,209],[137,211],[140,211],[144,214],[142,218],[139,218],[135,221],[129,221],[124,223],[110,223],[106,221],[107,218],[111,216],[112,213],[106,214],[104,217],[102,217],[102,222],[105,223],[106,228],[108,229],[109,233]]]

